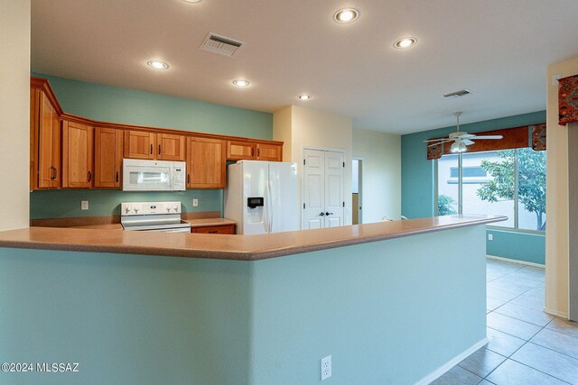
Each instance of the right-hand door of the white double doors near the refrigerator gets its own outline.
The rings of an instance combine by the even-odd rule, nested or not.
[[[343,152],[325,151],[325,227],[343,225]]]

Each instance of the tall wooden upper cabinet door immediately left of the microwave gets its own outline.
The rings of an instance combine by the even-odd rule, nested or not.
[[[97,127],[94,131],[94,187],[119,188],[123,162],[123,131]]]

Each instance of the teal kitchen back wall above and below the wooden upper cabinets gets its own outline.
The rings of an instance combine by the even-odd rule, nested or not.
[[[226,105],[214,105],[181,97],[152,94],[67,78],[48,78],[62,110],[104,122],[172,128],[200,133],[219,133],[272,139],[273,115]],[[198,207],[192,199],[199,198]],[[89,210],[80,211],[80,200]],[[69,216],[119,215],[121,202],[181,201],[185,212],[221,211],[221,190],[188,190],[172,193],[128,193],[118,190],[33,191],[31,219]]]

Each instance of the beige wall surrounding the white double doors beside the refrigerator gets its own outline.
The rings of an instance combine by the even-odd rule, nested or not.
[[[299,165],[299,201],[301,204],[301,179],[303,148],[323,148],[345,151],[345,218],[351,224],[351,152],[353,128],[348,116],[332,115],[312,108],[291,105],[273,115],[273,139],[284,141],[283,160]],[[290,138],[287,140],[287,138]],[[290,150],[287,143],[290,143]]]

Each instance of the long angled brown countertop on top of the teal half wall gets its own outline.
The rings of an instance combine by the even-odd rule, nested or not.
[[[492,215],[445,215],[276,234],[219,236],[27,227],[0,232],[0,247],[257,261],[506,219]]]

